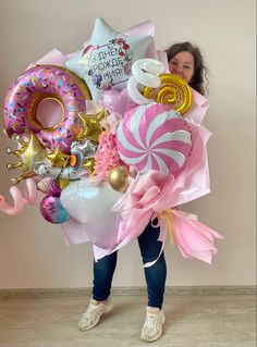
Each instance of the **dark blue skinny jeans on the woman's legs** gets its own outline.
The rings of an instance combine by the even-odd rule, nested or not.
[[[140,234],[138,245],[143,263],[154,261],[161,250],[161,243],[158,241],[159,230],[149,223]],[[117,267],[118,252],[113,252],[97,262],[94,261],[94,286],[93,298],[101,301],[106,300],[111,293],[112,277]],[[149,268],[144,268],[148,293],[148,306],[162,307],[166,288],[167,267],[163,251],[157,262]]]

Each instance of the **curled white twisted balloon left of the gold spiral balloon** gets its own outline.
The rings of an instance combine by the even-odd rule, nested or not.
[[[139,59],[132,65],[132,76],[127,80],[127,92],[138,104],[150,103],[151,99],[140,94],[144,87],[158,88],[161,85],[159,75],[164,72],[164,65],[155,59]]]

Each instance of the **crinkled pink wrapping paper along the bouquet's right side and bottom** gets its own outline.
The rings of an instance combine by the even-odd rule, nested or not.
[[[207,141],[210,132],[200,125],[207,108],[207,100],[195,92],[194,107],[192,112],[186,114],[192,131],[193,150],[183,171],[175,176],[150,171],[131,178],[126,193],[113,207],[113,210],[121,215],[117,243],[115,245],[109,244],[106,249],[95,245],[96,259],[109,255],[138,237],[149,221],[156,218],[159,212],[197,199],[210,191],[207,160]],[[175,224],[174,243],[182,256],[194,257],[210,263],[212,255],[216,253],[213,239],[221,236],[182,211],[173,210],[173,219]],[[79,238],[74,230],[66,226],[65,234],[70,235],[70,243],[86,240],[85,230],[81,231]],[[73,233],[76,234],[74,240],[71,237]],[[163,231],[161,235],[164,235]],[[107,243],[108,235],[106,237]]]

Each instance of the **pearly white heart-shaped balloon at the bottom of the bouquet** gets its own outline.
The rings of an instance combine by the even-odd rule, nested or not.
[[[99,184],[86,178],[71,182],[61,193],[61,202],[96,246],[113,249],[120,216],[111,209],[121,196],[107,182]]]

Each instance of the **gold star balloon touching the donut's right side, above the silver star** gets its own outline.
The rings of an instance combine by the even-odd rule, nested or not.
[[[107,111],[101,110],[96,114],[86,114],[79,112],[78,116],[81,119],[83,128],[77,135],[77,141],[89,139],[98,144],[99,136],[103,131],[103,127],[101,126],[100,122],[105,120],[105,117],[107,116]]]

